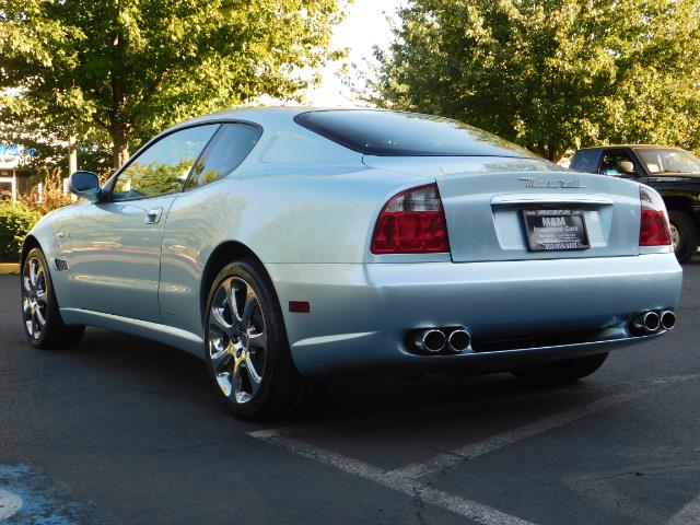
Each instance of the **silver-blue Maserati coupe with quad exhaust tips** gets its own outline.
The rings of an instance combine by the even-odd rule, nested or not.
[[[653,189],[455,120],[219,113],[70,188],[83,200],[24,242],[28,341],[75,345],[89,325],[171,345],[243,418],[288,415],[332,374],[570,382],[675,324]]]

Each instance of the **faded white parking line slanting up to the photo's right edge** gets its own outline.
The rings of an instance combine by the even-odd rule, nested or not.
[[[406,467],[393,470],[392,472],[397,474],[399,476],[415,478],[415,479],[423,476],[428,476],[432,472],[442,470],[444,468],[454,467],[455,465],[458,465],[459,463],[463,463],[465,460],[482,456],[485,454],[497,451],[508,445],[512,445],[513,443],[523,441],[527,438],[541,434],[557,427],[561,427],[562,424],[571,423],[579,419],[585,418],[586,416],[591,416],[602,410],[611,408],[616,405],[630,401],[634,398],[638,398],[640,396],[643,396],[644,394],[652,392],[653,386],[666,385],[668,383],[691,381],[697,378],[700,378],[700,374],[688,374],[688,375],[681,375],[681,376],[663,377],[658,380],[653,380],[653,382],[649,383],[651,387],[646,387],[640,390],[629,392],[625,394],[616,394],[612,396],[604,397],[588,405],[575,407],[570,410],[565,410],[563,412],[555,413],[553,416],[542,418],[538,421],[525,424],[517,429],[492,435],[490,438],[487,438],[483,441],[479,441],[477,443],[469,443],[459,448],[454,448],[450,452],[439,454],[438,456],[433,457],[432,459],[425,463],[417,463],[417,464],[408,465]]]

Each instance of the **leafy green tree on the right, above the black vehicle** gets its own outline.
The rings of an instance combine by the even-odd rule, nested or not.
[[[558,161],[602,141],[700,145],[697,0],[411,0],[369,98]]]

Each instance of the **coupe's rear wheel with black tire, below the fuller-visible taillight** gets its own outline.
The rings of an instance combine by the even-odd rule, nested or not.
[[[246,326],[243,326],[243,319],[234,317],[233,308],[223,299],[228,283],[230,283],[229,287],[248,285],[255,294],[258,307],[253,310],[249,320],[245,322]],[[233,301],[237,302],[240,299],[236,298],[240,296],[240,293],[242,292],[233,292],[230,296],[233,296]],[[246,290],[245,293],[249,292]],[[220,318],[231,325],[228,331],[221,323],[213,318],[214,300]],[[267,348],[264,351],[261,351],[261,347],[256,348],[253,342],[253,338],[260,334],[267,338]],[[236,345],[238,348],[235,347]],[[224,350],[224,347],[229,350]],[[257,390],[253,389],[254,382],[248,365],[243,366],[244,363],[248,363],[243,352],[247,352],[247,355],[256,361],[253,370],[255,375],[261,377],[256,383]],[[205,312],[205,355],[210,377],[219,397],[241,419],[262,420],[289,417],[302,410],[311,398],[311,383],[299,373],[292,361],[277,294],[265,271],[250,260],[241,260],[226,266],[219,272],[210,287]],[[238,365],[236,365],[236,360],[241,359],[244,360],[238,361]],[[245,371],[245,375],[241,370]],[[240,393],[236,393],[234,385],[236,371],[242,376],[244,375],[244,381],[238,382],[243,385]],[[226,382],[231,383],[228,393],[224,392]],[[244,392],[246,390],[244,384],[246,382],[250,392]],[[241,396],[246,394],[250,397],[238,399],[238,394]]]

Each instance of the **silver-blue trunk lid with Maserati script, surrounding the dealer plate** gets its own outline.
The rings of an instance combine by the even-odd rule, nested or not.
[[[455,262],[639,254],[639,188],[630,180],[565,171],[547,161],[522,158],[365,156],[364,163],[438,183]],[[557,219],[558,213],[581,215],[587,246],[533,250],[524,210],[532,210],[530,215],[555,217],[544,222],[530,220],[533,238],[542,235],[534,232],[533,224],[563,231],[574,220]],[[555,233],[556,238],[558,235]]]

